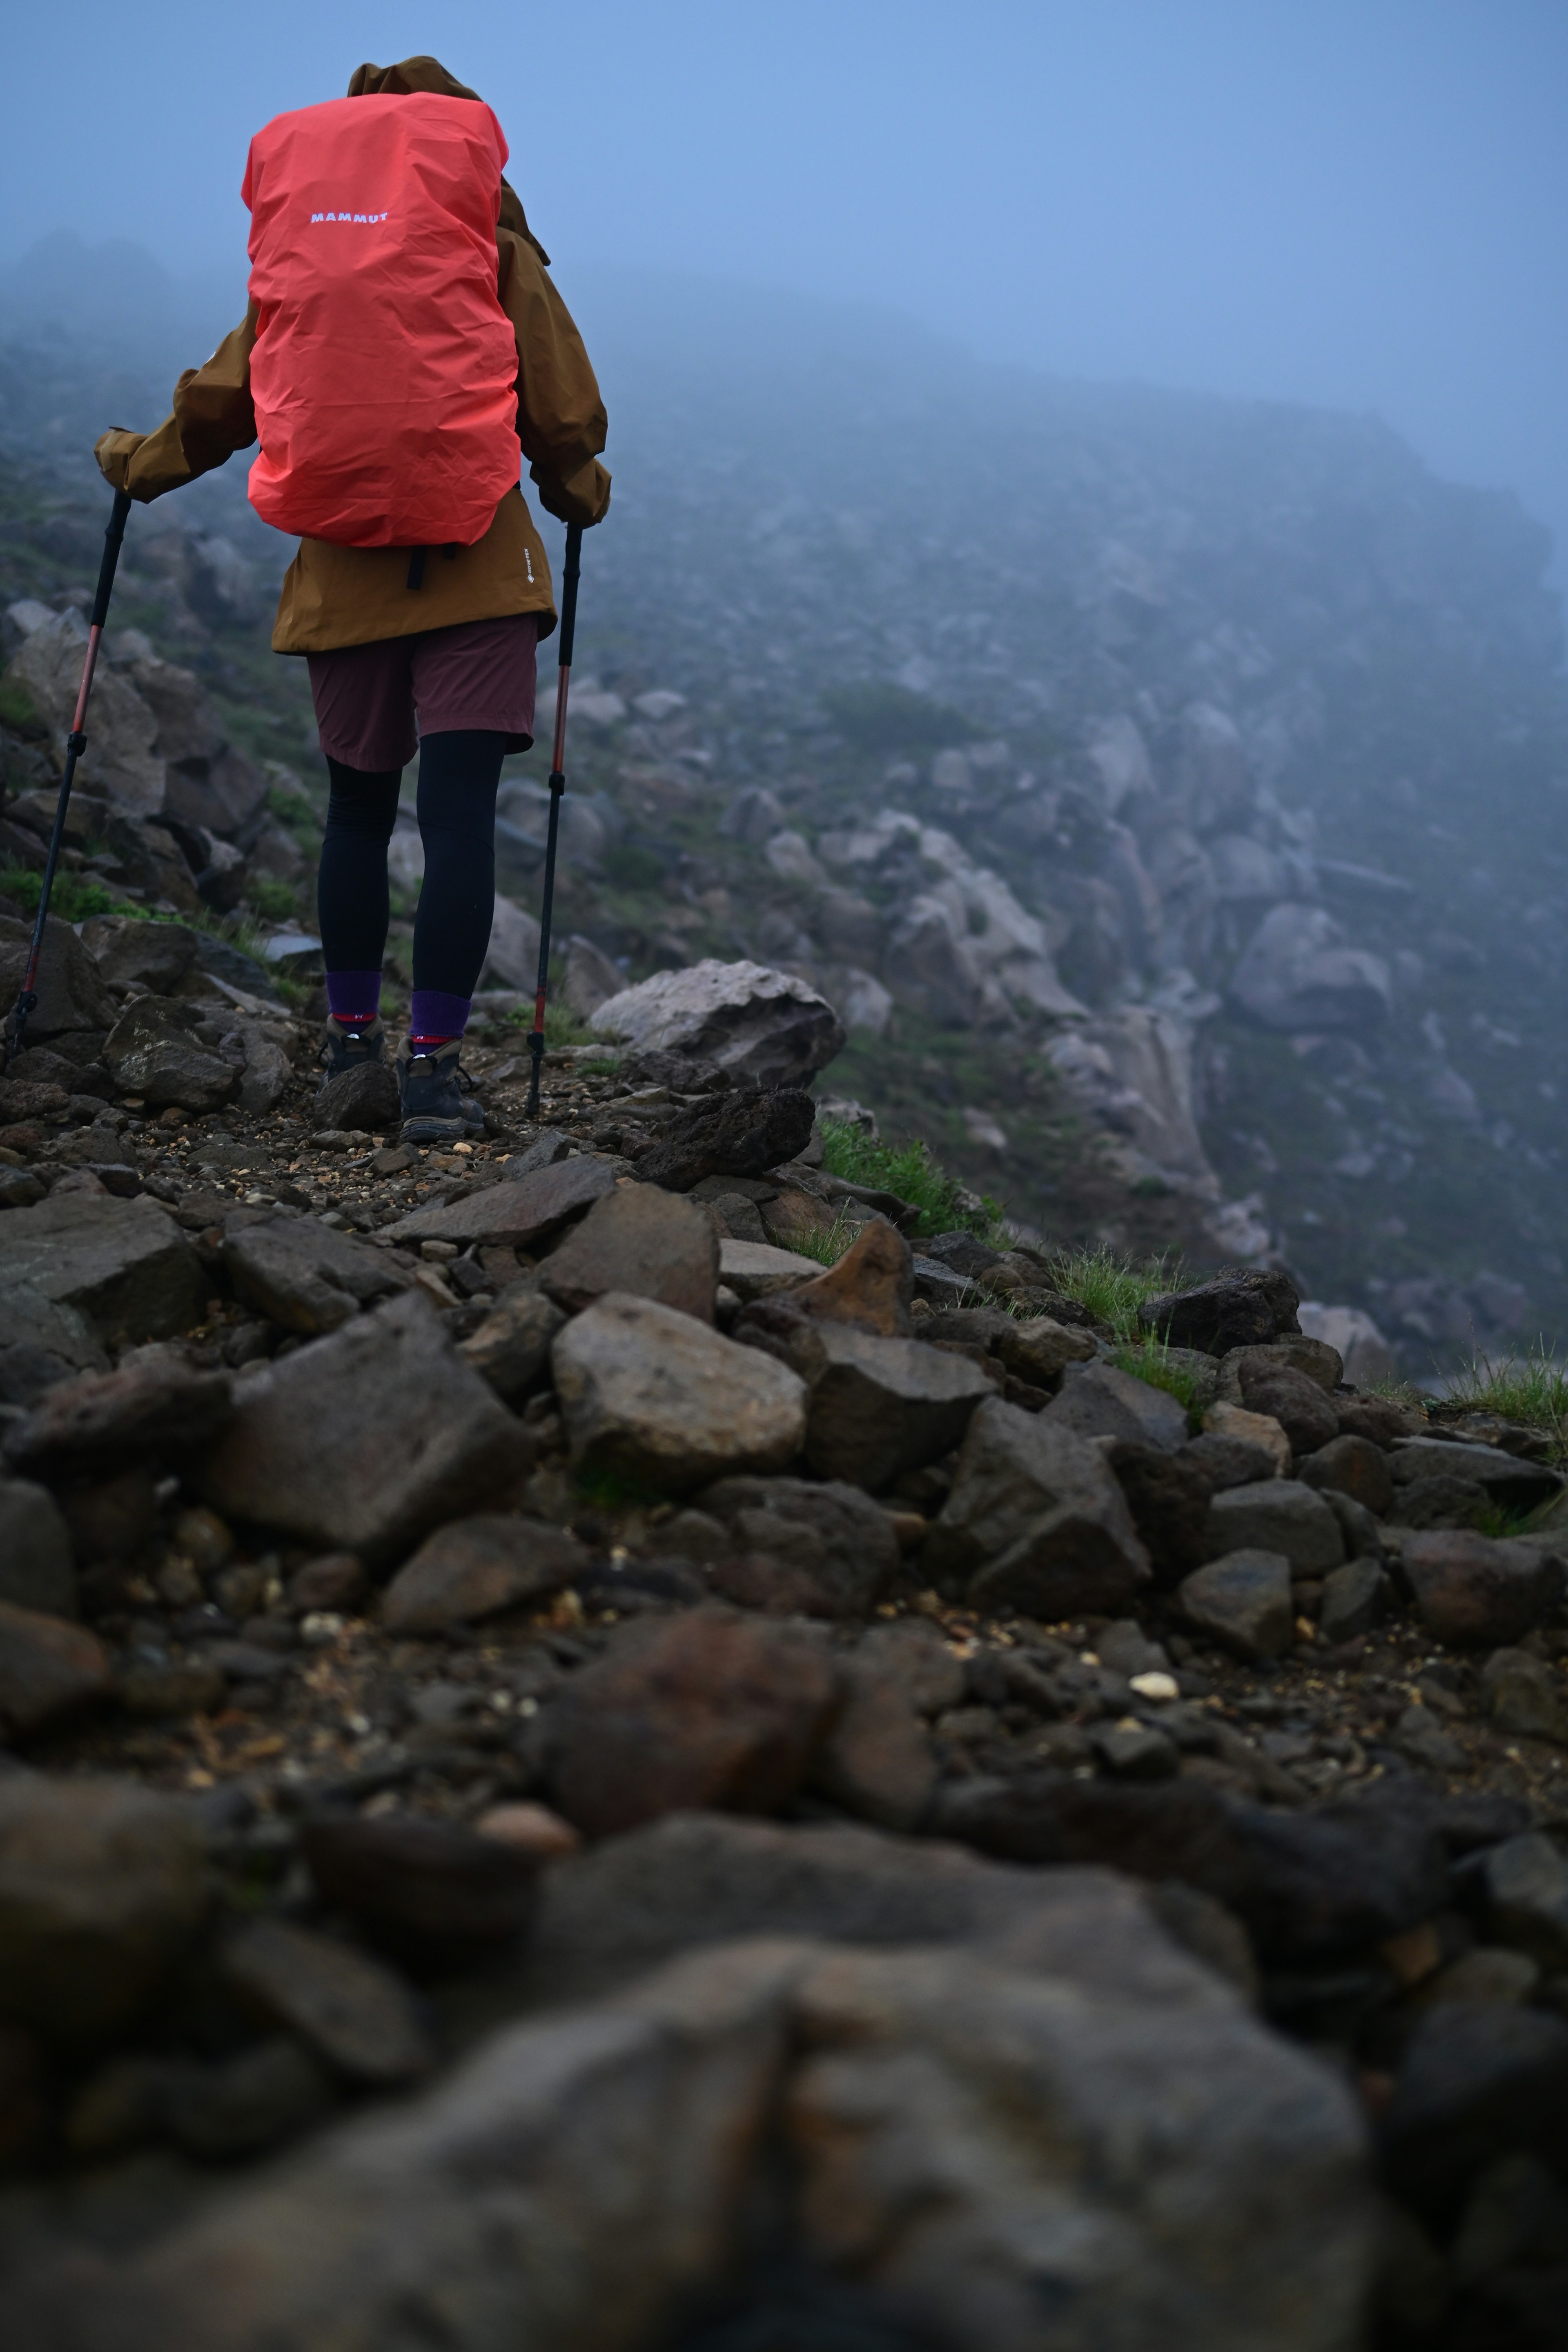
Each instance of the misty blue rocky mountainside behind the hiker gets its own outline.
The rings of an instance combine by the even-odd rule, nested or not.
[[[155,423],[230,322],[127,256],[0,287],[0,607],[87,600],[94,435]],[[96,325],[49,315],[66,275]],[[564,292],[616,494],[562,943],[806,974],[851,1028],[820,1091],[1053,1242],[1279,1258],[1415,1378],[1568,1331],[1568,701],[1519,503],[1373,419],[978,367],[795,296]],[[179,835],[263,929],[310,924],[324,800],[303,663],[268,652],[284,560],[230,463],[134,513],[113,612],[273,762]],[[7,788],[47,788],[0,715]],[[529,910],[543,774],[503,783]]]

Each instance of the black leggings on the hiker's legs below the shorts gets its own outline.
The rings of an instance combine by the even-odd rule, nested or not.
[[[505,736],[458,727],[418,746],[425,882],[414,917],[414,985],[473,997],[496,903],[496,786]],[[331,795],[315,906],[327,971],[378,971],[390,917],[386,844],[402,771],[327,760]]]

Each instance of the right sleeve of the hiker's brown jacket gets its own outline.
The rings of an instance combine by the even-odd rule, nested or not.
[[[517,336],[517,440],[538,503],[557,522],[599,522],[609,506],[609,473],[599,466],[609,423],[583,336],[538,249],[508,228],[496,242],[501,308]]]

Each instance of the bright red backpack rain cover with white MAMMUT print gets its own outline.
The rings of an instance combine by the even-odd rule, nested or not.
[[[517,485],[496,296],[505,139],[475,99],[331,99],[252,139],[263,522],[346,548],[473,546]]]

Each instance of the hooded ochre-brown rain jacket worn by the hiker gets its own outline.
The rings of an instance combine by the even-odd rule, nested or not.
[[[348,96],[430,89],[475,99],[433,56],[400,66],[360,66]],[[545,268],[548,254],[522,205],[501,181],[496,223],[496,292],[517,336],[517,440],[538,487],[538,503],[559,522],[599,522],[609,506],[609,475],[599,466],[604,402],[583,339]],[[132,499],[162,499],[256,442],[249,369],[256,306],[226,334],[205,367],[188,367],[174,386],[174,414],[155,433],[103,433],[99,468]],[[555,628],[550,564],[522,489],[508,489],[484,539],[454,557],[433,553],[418,588],[409,588],[407,548],[339,548],[301,539],[277,600],[273,649],[327,654],[336,644],[374,644],[454,621],[496,621],[536,612],[538,633]]]

